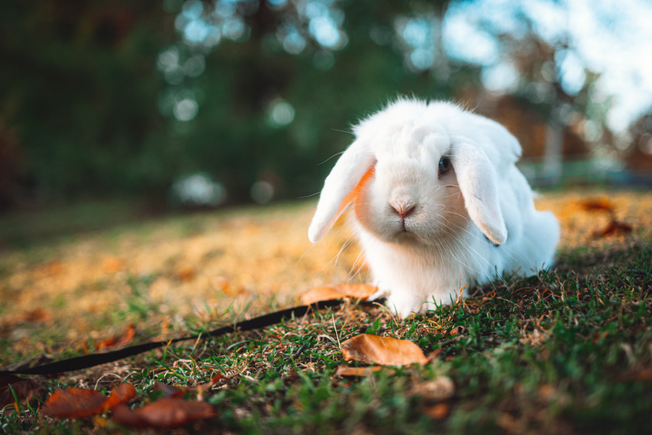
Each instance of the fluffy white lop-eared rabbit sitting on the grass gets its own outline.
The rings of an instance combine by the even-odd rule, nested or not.
[[[399,99],[353,131],[308,238],[318,242],[353,202],[377,295],[400,317],[552,265],[559,223],[535,210],[515,166],[520,144],[503,126],[451,103]]]

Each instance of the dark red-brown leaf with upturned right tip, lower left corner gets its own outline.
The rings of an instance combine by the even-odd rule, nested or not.
[[[41,408],[41,413],[61,418],[91,417],[126,403],[135,396],[136,388],[128,383],[115,387],[108,397],[99,391],[85,388],[55,390]]]

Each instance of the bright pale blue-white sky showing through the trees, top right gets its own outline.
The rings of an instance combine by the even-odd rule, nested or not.
[[[601,74],[591,97],[612,97],[606,120],[612,131],[625,131],[652,108],[652,1],[455,1],[442,26],[447,55],[484,65],[489,87],[509,88],[516,78],[509,59],[480,23],[518,36],[524,28],[517,11],[550,43],[569,36],[571,50],[556,58],[565,91],[581,88],[584,66]]]

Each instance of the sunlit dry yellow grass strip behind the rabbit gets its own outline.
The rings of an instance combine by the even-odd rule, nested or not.
[[[585,211],[582,201],[587,198],[608,199],[616,218],[631,225],[632,233],[595,236],[610,217]],[[652,238],[652,193],[544,195],[537,208],[559,217],[562,248]],[[163,336],[166,325],[185,325],[184,319],[194,315],[219,320],[231,304],[241,312],[253,300],[246,315],[257,314],[271,301],[297,304],[312,287],[364,282],[364,266],[356,263],[359,250],[348,246],[351,234],[342,221],[325,240],[310,244],[306,231],[313,210],[314,202],[304,202],[159,219],[125,227],[117,235],[104,231],[29,252],[1,253],[6,274],[0,281],[0,332],[4,325],[18,351],[31,344],[29,336],[12,334],[21,322],[41,321],[67,330],[68,344],[79,345],[89,336],[106,338],[125,325],[108,330],[105,323],[96,330],[100,323],[94,319],[127,310],[130,279],[148,284],[141,284],[145,298],[156,308],[147,323],[162,325]],[[153,280],[143,280],[147,276]],[[38,309],[30,320],[29,313]]]

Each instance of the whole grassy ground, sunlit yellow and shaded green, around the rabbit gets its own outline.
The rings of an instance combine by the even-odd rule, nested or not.
[[[473,289],[451,308],[399,321],[353,303],[44,384],[110,389],[130,379],[147,396],[154,381],[224,374],[207,398],[220,411],[209,425],[217,432],[652,429],[645,411],[652,404],[652,194],[548,193],[537,208],[561,222],[557,265]],[[308,242],[313,210],[314,202],[238,208],[9,240],[0,252],[0,366],[95,351],[129,325],[134,342],[213,329],[296,305],[326,283],[364,282],[345,223],[319,244]],[[0,222],[5,231],[7,222]],[[426,366],[362,380],[335,376],[339,340],[361,331],[440,354]],[[443,376],[452,379],[452,397],[419,393]],[[4,417],[5,429],[104,430],[29,413]],[[205,432],[202,424],[196,430]]]

